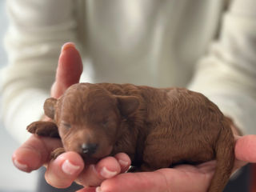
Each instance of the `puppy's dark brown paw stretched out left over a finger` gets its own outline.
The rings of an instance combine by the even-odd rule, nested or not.
[[[26,127],[31,134],[38,134],[39,136],[59,138],[58,127],[54,122],[32,122]]]

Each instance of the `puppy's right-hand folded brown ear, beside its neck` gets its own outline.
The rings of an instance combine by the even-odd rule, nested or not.
[[[118,99],[118,108],[121,114],[125,117],[133,114],[138,110],[139,100],[134,96],[116,96]]]

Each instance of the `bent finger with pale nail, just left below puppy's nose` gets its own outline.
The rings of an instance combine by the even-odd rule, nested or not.
[[[79,154],[66,152],[48,164],[46,182],[57,188],[66,188],[74,182],[83,168],[84,162]]]

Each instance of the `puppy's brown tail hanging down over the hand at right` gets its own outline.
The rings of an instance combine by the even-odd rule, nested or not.
[[[217,165],[208,192],[221,192],[229,181],[234,166],[234,135],[231,121],[223,118],[222,131],[215,146]]]

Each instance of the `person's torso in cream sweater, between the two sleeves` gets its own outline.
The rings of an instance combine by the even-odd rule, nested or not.
[[[91,82],[186,86],[218,32],[222,0],[80,1]],[[86,62],[88,63],[88,62]],[[88,81],[88,78],[84,78]]]

